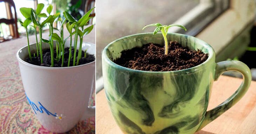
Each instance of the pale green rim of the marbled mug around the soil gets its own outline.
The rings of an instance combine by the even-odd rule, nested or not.
[[[179,36],[187,36],[190,38],[194,38],[197,41],[200,41],[201,45],[205,48],[209,48],[207,49],[209,52],[209,56],[207,58],[206,61],[204,61],[203,63],[196,65],[192,68],[188,68],[188,69],[182,69],[182,70],[176,70],[176,71],[144,71],[144,70],[136,70],[136,69],[130,69],[130,68],[126,68],[124,66],[118,65],[116,63],[114,63],[112,60],[110,60],[110,58],[107,56],[107,49],[115,42],[120,41],[120,40],[125,40],[125,38],[127,37],[131,37],[131,36],[138,36],[138,35],[152,35],[153,33],[139,33],[139,34],[133,34],[133,35],[128,35],[128,36],[124,36],[121,37],[117,40],[112,41],[111,43],[109,43],[102,51],[102,60],[105,60],[110,66],[113,66],[113,68],[117,68],[119,70],[123,70],[123,71],[131,71],[131,72],[137,72],[137,73],[182,73],[182,72],[194,72],[194,71],[198,71],[201,70],[200,67],[204,64],[207,64],[210,62],[210,60],[212,58],[215,57],[215,51],[213,49],[213,47],[211,47],[211,45],[209,45],[208,43],[204,42],[203,40],[200,40],[199,38],[190,36],[190,35],[185,35],[185,34],[179,34],[179,33],[168,33],[167,35],[179,35]],[[157,33],[157,34],[161,34],[161,33]],[[215,61],[214,61],[215,62]]]

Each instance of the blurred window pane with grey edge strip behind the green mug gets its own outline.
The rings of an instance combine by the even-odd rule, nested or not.
[[[188,31],[170,28],[169,32],[195,36],[229,7],[229,0],[97,0],[96,90],[103,88],[101,52],[110,42],[142,31],[151,23],[183,24]]]

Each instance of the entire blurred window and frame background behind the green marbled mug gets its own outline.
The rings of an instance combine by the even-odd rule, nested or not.
[[[169,32],[200,38],[214,48],[216,62],[240,60],[255,73],[256,0],[97,0],[96,7],[97,91],[103,88],[103,48],[123,36],[153,32],[142,28],[157,22],[184,25],[186,32],[176,27]]]

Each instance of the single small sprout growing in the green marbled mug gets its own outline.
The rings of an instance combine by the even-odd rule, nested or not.
[[[184,26],[179,25],[179,24],[162,25],[160,23],[149,24],[149,25],[143,27],[142,30],[144,30],[146,27],[149,27],[149,26],[155,26],[156,27],[156,29],[153,32],[153,35],[155,35],[158,31],[161,31],[161,33],[163,35],[163,39],[164,39],[164,50],[165,50],[164,54],[165,55],[168,55],[168,41],[167,41],[168,29],[170,27],[176,26],[176,27],[180,27],[180,28],[184,29],[185,31],[187,31],[187,29]]]

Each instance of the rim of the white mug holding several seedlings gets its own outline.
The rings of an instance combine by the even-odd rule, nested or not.
[[[88,43],[90,45],[93,45],[94,47],[96,46],[94,43],[90,43],[90,42],[85,42],[85,43]],[[29,44],[29,45],[35,45],[36,43],[33,43],[33,44]],[[83,64],[83,65],[77,65],[77,66],[68,66],[68,67],[48,67],[48,66],[39,66],[39,65],[34,65],[34,64],[30,64],[28,62],[25,62],[24,60],[22,60],[19,56],[19,53],[22,49],[28,47],[28,45],[25,45],[24,47],[21,47],[17,52],[16,52],[16,58],[18,59],[19,62],[27,65],[27,66],[30,66],[32,68],[38,68],[38,69],[49,69],[49,70],[60,70],[60,69],[68,69],[68,68],[80,68],[80,67],[83,67],[83,66],[88,66],[90,64],[95,64],[95,61],[96,61],[96,56],[95,56],[95,60],[93,62],[90,62],[90,63],[86,63],[86,64]],[[95,52],[96,53],[96,52]]]

